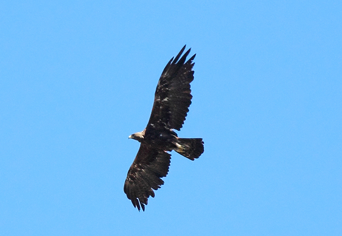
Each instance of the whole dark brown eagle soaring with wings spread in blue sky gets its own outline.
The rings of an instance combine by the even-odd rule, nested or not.
[[[171,154],[179,154],[194,160],[204,151],[201,138],[179,138],[173,129],[180,130],[191,104],[190,83],[193,80],[194,54],[187,62],[191,48],[180,58],[178,55],[165,66],[154,95],[154,103],[147,127],[129,138],[140,142],[140,149],[130,166],[124,192],[140,211],[145,211],[149,196],[164,184],[161,179],[169,172]],[[179,59],[180,58],[180,59]]]

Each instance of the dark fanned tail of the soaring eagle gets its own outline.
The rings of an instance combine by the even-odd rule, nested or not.
[[[177,138],[174,150],[193,161],[203,153],[203,144],[201,138]]]

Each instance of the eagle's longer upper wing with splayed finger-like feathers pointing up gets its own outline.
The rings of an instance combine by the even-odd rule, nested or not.
[[[178,55],[165,66],[159,79],[147,132],[154,129],[177,129],[184,124],[189,111],[192,95],[190,83],[193,80],[194,54],[187,62],[191,48],[180,58],[185,46]],[[179,59],[180,58],[180,59]]]

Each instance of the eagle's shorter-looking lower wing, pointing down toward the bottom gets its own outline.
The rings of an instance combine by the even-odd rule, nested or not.
[[[168,174],[170,160],[171,154],[166,151],[140,145],[124,186],[128,199],[139,211],[140,206],[145,211],[149,196],[154,197],[152,189],[157,190],[164,184],[161,178]]]

